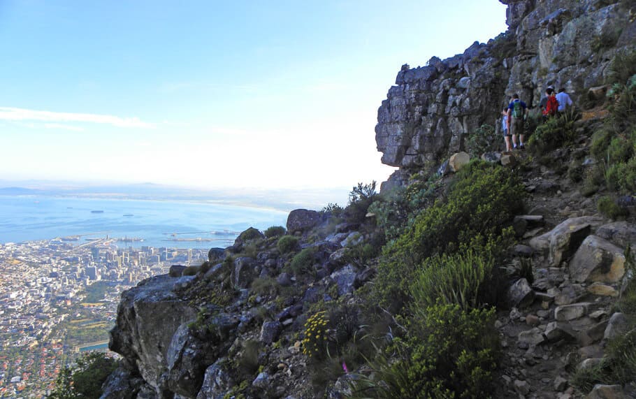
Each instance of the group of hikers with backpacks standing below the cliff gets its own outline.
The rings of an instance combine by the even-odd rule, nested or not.
[[[572,105],[572,99],[565,92],[565,89],[559,89],[556,93],[554,87],[548,86],[545,97],[539,103],[539,108],[545,122],[549,117],[565,113]],[[510,152],[517,148],[523,150],[525,147],[523,144],[523,125],[528,117],[528,105],[519,99],[519,94],[513,94],[508,106],[501,111],[501,115],[501,130],[506,143],[506,151]],[[519,145],[517,145],[517,137],[519,137]]]

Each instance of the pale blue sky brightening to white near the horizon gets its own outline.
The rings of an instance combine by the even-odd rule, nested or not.
[[[505,29],[497,0],[0,0],[0,180],[382,182],[400,66]]]

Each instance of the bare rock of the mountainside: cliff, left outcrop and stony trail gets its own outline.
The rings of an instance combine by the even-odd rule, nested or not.
[[[552,84],[581,99],[602,85],[612,55],[635,45],[632,1],[502,2],[505,36],[398,73],[376,128],[382,161],[400,166],[390,185],[463,150],[468,133],[492,124],[512,92],[536,104]],[[552,164],[505,155],[528,193],[505,261],[516,270],[530,265],[530,275],[512,281],[509,308],[498,313],[505,355],[496,398],[584,397],[570,386],[574,370],[598,363],[607,340],[628,328],[612,305],[626,284],[624,249],[636,247],[636,212],[623,222],[598,214],[595,197],[582,196],[563,167],[588,157],[601,118],[577,122],[580,138],[548,154]],[[110,349],[124,360],[103,398],[346,397],[347,379],[361,370],[339,358],[333,370],[319,370],[302,341],[319,303],[338,303],[345,326],[364,317],[359,293],[377,273],[382,232],[373,217],[336,211],[295,210],[282,237],[249,229],[232,247],[210,249],[201,268],[174,266],[123,293]],[[596,390],[590,398],[636,397],[630,385]]]

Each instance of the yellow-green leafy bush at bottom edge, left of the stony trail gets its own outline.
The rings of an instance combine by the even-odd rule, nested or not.
[[[353,397],[489,398],[500,356],[494,321],[494,309],[421,309],[406,340],[396,339],[393,353],[371,363],[372,374],[354,379]]]

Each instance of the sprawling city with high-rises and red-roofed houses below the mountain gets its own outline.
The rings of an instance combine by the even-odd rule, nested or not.
[[[47,396],[64,365],[106,347],[124,289],[207,259],[204,249],[114,242],[0,243],[0,398]]]

